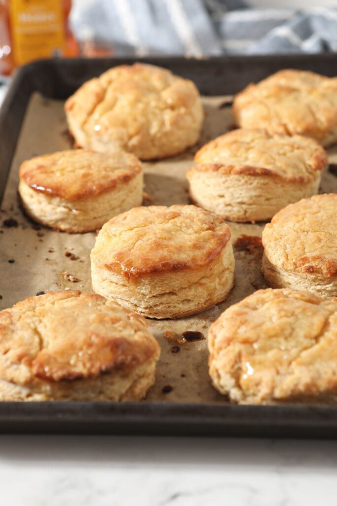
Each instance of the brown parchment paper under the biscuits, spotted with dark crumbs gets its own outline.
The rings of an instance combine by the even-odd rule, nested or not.
[[[206,119],[199,144],[179,156],[143,163],[145,192],[151,198],[144,202],[145,205],[189,203],[185,171],[193,163],[194,153],[200,146],[231,128],[233,121],[228,102],[228,97],[203,98]],[[92,291],[89,253],[95,234],[66,234],[36,226],[23,215],[17,199],[18,169],[23,160],[71,147],[63,101],[45,99],[39,94],[32,95],[1,206],[0,309],[11,307],[40,291],[65,288]],[[321,193],[337,192],[337,173],[333,167],[333,164],[337,163],[337,148],[329,150],[329,155],[331,171],[323,174]],[[9,219],[16,220],[18,225],[6,226],[15,225],[15,222],[8,222]],[[261,237],[263,224],[228,222],[228,225],[232,233],[236,261],[235,287],[228,299],[187,318],[148,320],[151,331],[161,345],[162,354],[156,385],[150,390],[147,401],[228,402],[211,385],[206,339],[178,344],[169,342],[164,337],[164,333],[168,331],[180,336],[182,332],[192,330],[202,332],[206,338],[209,325],[228,306],[256,289],[266,287],[260,273],[261,247],[255,245],[254,241],[236,241],[243,234]],[[70,252],[73,257],[69,256],[69,253],[65,256],[66,252]],[[71,274],[78,282],[65,280],[64,273]]]

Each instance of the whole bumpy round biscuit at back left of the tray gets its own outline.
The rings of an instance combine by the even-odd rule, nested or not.
[[[204,113],[194,83],[154,65],[111,68],[65,104],[76,143],[148,160],[184,151],[199,139]]]

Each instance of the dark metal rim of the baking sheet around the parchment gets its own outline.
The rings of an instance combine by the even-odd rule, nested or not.
[[[21,68],[0,111],[0,200],[31,95],[67,98],[82,82],[134,59],[45,60]],[[337,55],[142,59],[194,80],[203,95],[230,95],[281,68],[337,74]],[[1,239],[0,239],[1,240]],[[1,247],[1,246],[0,246]],[[337,407],[228,404],[0,403],[0,431],[335,438]]]

